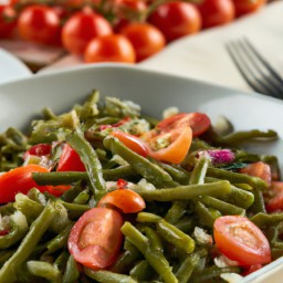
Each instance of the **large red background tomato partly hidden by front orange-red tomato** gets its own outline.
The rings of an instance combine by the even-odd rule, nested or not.
[[[74,54],[83,54],[90,41],[96,36],[112,34],[109,22],[92,11],[74,13],[62,29],[62,43]]]

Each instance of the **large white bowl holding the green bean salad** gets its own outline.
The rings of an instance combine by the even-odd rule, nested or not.
[[[81,66],[2,84],[0,132],[9,126],[23,128],[46,106],[55,113],[66,111],[94,88],[102,95],[132,99],[151,116],[160,117],[163,109],[177,106],[181,112],[207,113],[212,123],[224,115],[235,130],[275,129],[280,135],[277,142],[253,146],[252,150],[276,155],[283,168],[282,101],[119,64]],[[279,283],[280,273],[283,273],[283,258],[241,283]]]

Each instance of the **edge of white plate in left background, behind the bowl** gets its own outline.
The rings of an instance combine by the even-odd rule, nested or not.
[[[0,48],[0,84],[31,76],[32,72],[17,56]]]

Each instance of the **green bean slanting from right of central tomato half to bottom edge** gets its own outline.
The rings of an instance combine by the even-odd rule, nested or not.
[[[149,248],[148,239],[143,235],[134,226],[132,226],[129,222],[125,222],[120,231],[144,254],[147,262],[164,279],[165,283],[178,282],[171,272],[169,263],[164,254],[158,251],[153,251]]]

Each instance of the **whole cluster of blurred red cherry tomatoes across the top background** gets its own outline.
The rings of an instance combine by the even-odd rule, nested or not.
[[[265,0],[10,0],[0,38],[62,45],[85,62],[140,62],[166,44],[254,12]]]

